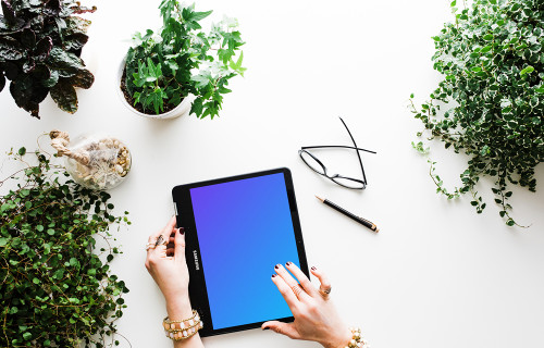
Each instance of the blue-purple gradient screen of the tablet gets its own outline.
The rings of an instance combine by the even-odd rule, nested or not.
[[[299,265],[283,173],[190,189],[214,330],[292,316],[271,276]]]

